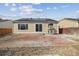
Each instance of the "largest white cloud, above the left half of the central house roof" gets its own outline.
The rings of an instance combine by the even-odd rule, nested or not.
[[[19,10],[26,14],[41,13],[43,11],[42,9],[33,8],[32,5],[21,6],[19,7]]]

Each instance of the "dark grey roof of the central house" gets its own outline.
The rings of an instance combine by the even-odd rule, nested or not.
[[[13,21],[14,23],[22,23],[22,22],[44,22],[44,23],[58,23],[56,20],[48,19],[48,18],[22,18]]]

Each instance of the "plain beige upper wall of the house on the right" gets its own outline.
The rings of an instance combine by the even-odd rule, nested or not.
[[[57,26],[60,28],[78,27],[78,22],[72,20],[61,20]]]

